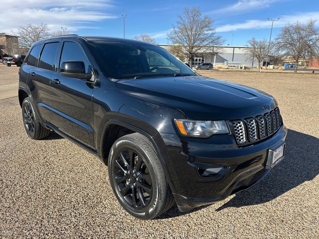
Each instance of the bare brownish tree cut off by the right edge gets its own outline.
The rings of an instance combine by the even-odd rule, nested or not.
[[[311,61],[319,56],[319,28],[315,23],[309,20],[307,23],[288,24],[276,38],[277,51],[295,61],[295,73],[301,59]]]

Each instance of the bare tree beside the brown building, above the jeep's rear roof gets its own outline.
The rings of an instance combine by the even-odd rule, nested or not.
[[[30,48],[34,42],[50,37],[49,28],[43,23],[19,26],[15,34],[19,36],[22,48]]]

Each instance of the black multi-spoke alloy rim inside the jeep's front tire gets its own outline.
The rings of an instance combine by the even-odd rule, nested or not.
[[[131,148],[115,157],[113,175],[122,197],[133,208],[145,208],[152,198],[152,178],[143,157]]]

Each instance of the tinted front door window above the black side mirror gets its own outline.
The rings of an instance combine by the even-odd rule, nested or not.
[[[65,61],[83,61],[85,65],[85,73],[91,73],[89,62],[82,48],[75,42],[64,42],[61,53],[60,66],[62,62]]]

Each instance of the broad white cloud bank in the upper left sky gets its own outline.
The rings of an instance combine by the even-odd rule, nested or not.
[[[0,12],[0,32],[15,31],[21,24],[47,24],[52,31],[66,27],[68,32],[92,28],[89,23],[117,16],[106,13],[112,8],[111,0],[23,0],[6,1]],[[9,15],[22,21],[9,21]]]

